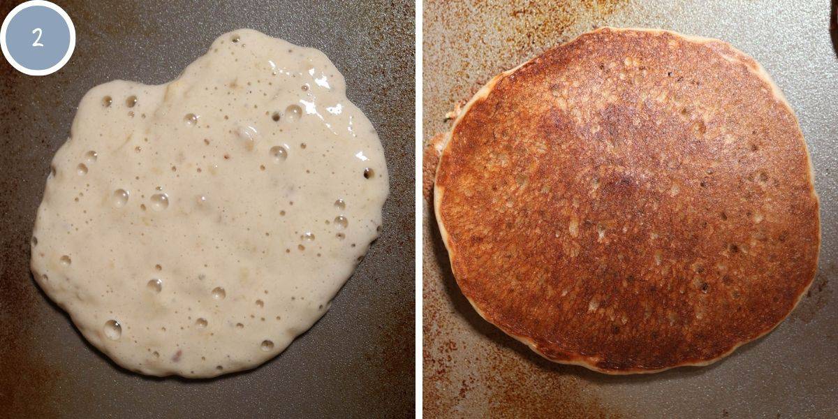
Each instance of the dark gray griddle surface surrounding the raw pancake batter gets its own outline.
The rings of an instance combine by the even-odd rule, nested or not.
[[[70,62],[30,77],[0,59],[0,417],[412,417],[413,3],[54,2],[75,23]],[[18,3],[0,2],[0,17]],[[91,87],[172,80],[244,27],[320,49],[344,74],[384,144],[384,230],[328,313],[276,359],[213,380],[133,374],[86,344],[29,273],[49,162]]]

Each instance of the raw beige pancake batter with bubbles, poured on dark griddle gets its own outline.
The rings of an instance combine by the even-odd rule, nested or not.
[[[222,34],[163,85],[81,99],[35,220],[35,280],[147,375],[271,360],[327,313],[379,235],[375,128],[317,49]]]

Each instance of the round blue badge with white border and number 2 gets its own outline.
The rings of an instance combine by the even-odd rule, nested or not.
[[[54,3],[32,0],[13,8],[0,28],[3,55],[27,75],[50,75],[64,67],[75,48],[70,16]]]

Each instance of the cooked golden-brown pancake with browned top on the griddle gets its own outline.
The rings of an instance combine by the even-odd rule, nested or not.
[[[715,39],[602,28],[498,75],[448,133],[434,204],[473,307],[549,360],[706,365],[815,275],[798,122]]]

